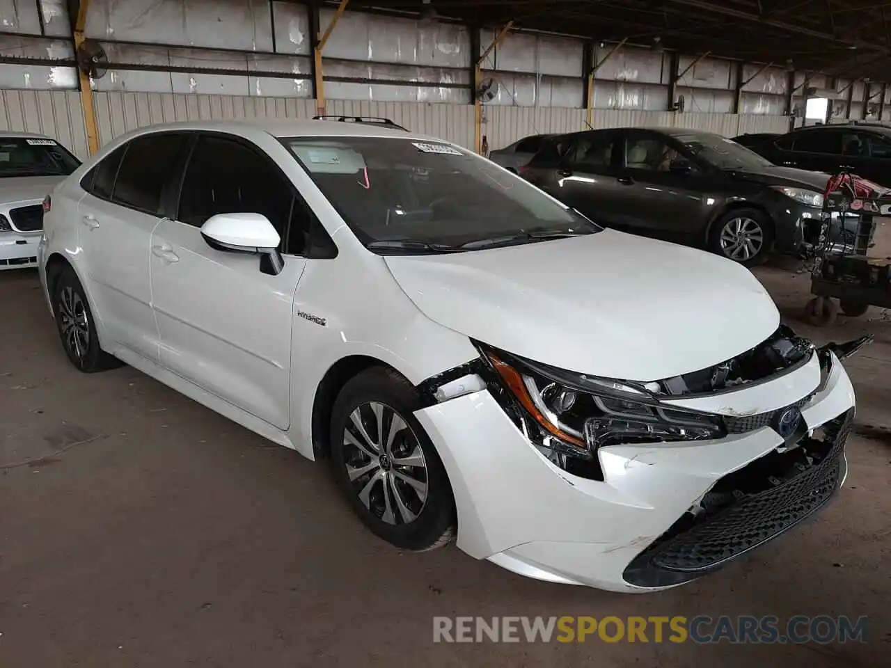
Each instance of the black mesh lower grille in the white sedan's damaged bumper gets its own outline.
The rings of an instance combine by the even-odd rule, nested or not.
[[[759,493],[734,493],[737,501],[711,517],[690,523],[684,516],[625,569],[641,587],[688,582],[782,534],[820,509],[845,475],[843,452],[853,422],[848,411],[824,428],[830,449],[820,463]],[[732,474],[733,475],[733,474]],[[717,486],[717,485],[716,485]],[[687,528],[678,530],[684,525]]]

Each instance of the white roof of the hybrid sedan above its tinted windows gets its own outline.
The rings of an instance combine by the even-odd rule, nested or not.
[[[141,127],[128,136],[158,132],[159,130],[208,130],[239,134],[245,130],[262,130],[274,137],[392,137],[394,139],[422,139],[444,142],[426,134],[406,132],[383,123],[352,123],[336,120],[303,118],[251,118],[246,120],[195,120],[163,123]]]

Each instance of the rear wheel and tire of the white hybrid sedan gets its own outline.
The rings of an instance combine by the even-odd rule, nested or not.
[[[117,358],[99,346],[96,322],[86,291],[71,267],[66,266],[61,270],[53,285],[52,299],[61,346],[78,371],[94,373],[121,365]]]

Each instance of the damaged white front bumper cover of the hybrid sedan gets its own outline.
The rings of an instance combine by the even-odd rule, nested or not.
[[[801,408],[809,429],[854,409],[851,381],[831,357],[825,384]],[[760,396],[774,410],[801,399],[794,395],[800,387],[797,374],[812,374],[813,379],[813,367],[732,395],[751,405]],[[723,395],[723,401],[729,396]],[[452,483],[459,548],[529,577],[613,591],[654,591],[714,570],[682,578],[641,576],[642,570],[658,570],[658,559],[654,566],[648,555],[654,546],[666,544],[665,536],[679,518],[716,483],[784,443],[765,426],[713,441],[604,447],[598,452],[604,480],[597,481],[572,476],[546,460],[487,390],[415,415]],[[826,499],[845,477],[844,438],[836,454],[838,475]],[[767,532],[748,549],[796,521]]]

